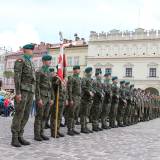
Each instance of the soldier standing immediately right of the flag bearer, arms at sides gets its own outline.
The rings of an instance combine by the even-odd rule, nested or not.
[[[73,136],[80,134],[75,130],[75,119],[79,117],[79,109],[81,102],[81,78],[80,66],[73,67],[73,75],[68,77],[68,101],[69,106],[67,110],[67,128],[68,135]]]

